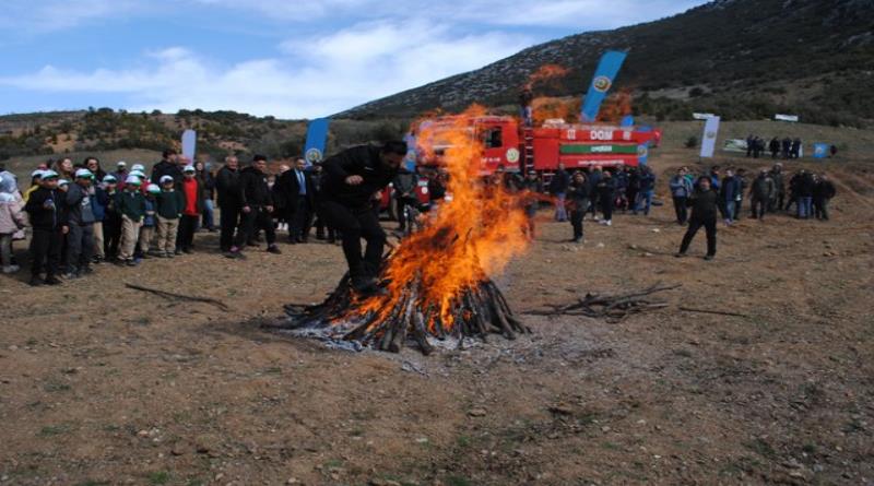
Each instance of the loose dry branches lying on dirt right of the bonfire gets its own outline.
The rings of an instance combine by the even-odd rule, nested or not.
[[[586,316],[595,319],[606,319],[618,322],[633,313],[646,312],[653,309],[668,307],[665,300],[647,298],[652,294],[681,287],[675,285],[656,285],[643,291],[629,292],[616,295],[586,294],[576,303],[567,305],[552,305],[548,309],[530,310],[525,313],[533,316]]]

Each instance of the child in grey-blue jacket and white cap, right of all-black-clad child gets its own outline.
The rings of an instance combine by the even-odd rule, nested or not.
[[[91,273],[91,258],[94,252],[94,209],[91,203],[91,180],[88,169],[75,171],[75,183],[70,186],[64,197],[67,222],[67,278],[76,278]]]

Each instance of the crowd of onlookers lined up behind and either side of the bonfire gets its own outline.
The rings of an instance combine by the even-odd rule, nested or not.
[[[392,161],[398,157],[394,153],[403,151],[402,143],[397,147],[388,145]],[[125,162],[119,162],[115,170],[106,173],[96,157],[86,157],[80,164],[62,158],[37,168],[31,186],[23,192],[11,173],[0,171],[2,272],[20,271],[12,242],[24,239],[23,229],[27,225],[32,228],[31,284],[57,285],[61,282],[59,276],[79,278],[103,262],[135,266],[149,258],[190,253],[194,250],[197,232],[216,230],[216,206],[221,213],[218,246],[228,258],[243,259],[245,248],[257,248],[261,242],[265,242],[268,252],[281,253],[277,230],[287,233],[288,244],[298,245],[309,241],[315,227],[317,239],[329,242],[342,239],[347,260],[352,266],[357,265],[365,257],[361,256],[357,241],[362,236],[354,235],[377,234],[378,224],[374,222],[378,222],[380,194],[386,187],[368,186],[347,194],[346,199],[355,202],[352,217],[339,216],[347,203],[345,199],[320,198],[320,194],[351,191],[349,183],[336,182],[345,180],[344,175],[350,170],[343,164],[364,170],[367,164],[380,167],[380,157],[386,157],[380,152],[385,147],[364,145],[358,150],[365,152],[357,154],[350,150],[312,166],[298,158],[292,166],[281,165],[276,174],[271,174],[267,157],[261,155],[253,156],[245,168],[237,157],[228,156],[221,169],[213,173],[209,163],[192,164],[175,151],[166,150],[150,175],[140,164],[128,169]],[[387,180],[393,186],[402,232],[414,222],[409,221],[405,209],[420,208],[416,187],[422,177],[400,164],[391,166]],[[437,204],[447,195],[448,178],[445,169],[427,176],[432,203]],[[647,166],[593,167],[572,173],[559,166],[544,185],[538,174],[521,177],[498,167],[493,180],[531,194],[524,199],[530,235],[533,236],[535,215],[544,199],[539,195],[547,194],[555,201],[555,220],[569,221],[571,240],[580,242],[587,215],[605,226],[612,226],[615,211],[648,215],[657,177]],[[676,222],[688,226],[678,254],[685,254],[696,232],[704,227],[708,258],[716,254],[718,216],[728,226],[734,224],[742,217],[745,200],[749,201],[749,216],[759,221],[766,214],[789,212],[793,206],[799,218],[828,220],[829,201],[836,192],[827,175],[800,169],[790,177],[781,163],[761,169],[755,177],[747,177],[744,168],[729,167],[722,171],[714,166],[695,175],[682,167],[668,186]],[[368,213],[365,225],[361,223],[362,211]]]

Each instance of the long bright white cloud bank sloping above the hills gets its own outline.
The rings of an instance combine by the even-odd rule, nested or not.
[[[519,35],[459,36],[447,26],[370,23],[286,42],[287,57],[232,66],[181,47],[149,52],[143,68],[91,72],[47,66],[0,85],[48,93],[122,93],[128,109],[233,109],[303,118],[330,115],[399,91],[480,68],[530,43]]]

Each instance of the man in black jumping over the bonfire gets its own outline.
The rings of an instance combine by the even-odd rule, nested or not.
[[[387,142],[382,146],[361,145],[324,161],[319,214],[341,232],[343,254],[349,263],[352,286],[358,293],[377,291],[376,275],[382,260],[386,233],[379,226],[370,200],[398,175],[406,156],[406,143]],[[367,249],[362,257],[362,241]]]

